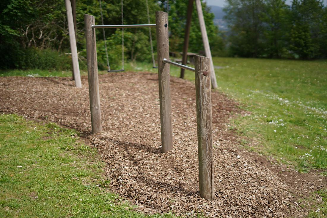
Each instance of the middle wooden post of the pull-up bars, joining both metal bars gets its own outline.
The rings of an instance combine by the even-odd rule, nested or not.
[[[168,14],[156,11],[158,77],[160,98],[161,123],[161,152],[168,152],[173,148],[171,128],[171,99],[170,99],[170,66],[163,63],[163,58],[169,60]]]

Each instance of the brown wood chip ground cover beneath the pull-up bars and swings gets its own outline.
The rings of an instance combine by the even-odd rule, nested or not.
[[[172,211],[186,216],[200,212],[209,217],[301,217],[306,213],[297,203],[302,189],[311,193],[326,185],[316,174],[310,177],[313,182],[243,150],[227,127],[232,114],[243,112],[231,99],[213,92],[216,197],[204,200],[198,192],[194,83],[171,78],[174,149],[163,154],[158,75],[115,73],[100,75],[99,81],[100,134],[90,134],[86,77],[82,77],[81,89],[68,78],[2,77],[0,111],[82,132],[107,163],[111,189],[148,214]],[[298,182],[294,183],[294,178]]]

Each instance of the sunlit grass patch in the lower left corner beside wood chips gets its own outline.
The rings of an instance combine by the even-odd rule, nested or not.
[[[74,130],[0,114],[0,156],[0,217],[173,217],[109,193],[104,163]]]

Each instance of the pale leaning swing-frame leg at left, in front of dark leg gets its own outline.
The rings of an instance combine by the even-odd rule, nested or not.
[[[77,88],[81,88],[82,83],[81,83],[81,76],[79,73],[75,29],[74,29],[74,21],[73,21],[73,14],[72,14],[72,5],[71,5],[70,0],[65,0],[65,4],[66,4],[66,11],[67,11],[68,32],[69,32],[70,49],[72,52],[72,62],[73,62],[73,73],[74,73],[75,85]]]

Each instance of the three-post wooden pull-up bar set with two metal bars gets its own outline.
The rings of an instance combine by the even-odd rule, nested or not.
[[[170,65],[195,72],[197,129],[198,129],[198,166],[200,195],[205,199],[215,197],[213,144],[212,144],[212,111],[211,111],[211,64],[210,59],[195,56],[195,68],[181,65],[169,60],[168,14],[156,11],[156,24],[132,25],[95,25],[95,18],[85,14],[85,37],[88,66],[89,94],[92,133],[102,130],[99,96],[99,79],[96,56],[96,28],[136,28],[156,27],[158,52],[158,79],[160,98],[161,151],[168,152],[173,148],[171,97],[170,97]]]

